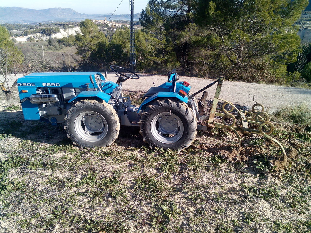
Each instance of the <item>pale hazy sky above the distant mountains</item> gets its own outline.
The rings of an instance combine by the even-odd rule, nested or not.
[[[105,14],[112,13],[117,8],[121,0],[15,0],[15,1],[1,1],[0,7],[24,7],[30,9],[47,9],[53,7],[71,8],[79,13],[86,14]],[[134,0],[135,13],[141,12],[145,9],[148,0]],[[118,14],[129,14],[129,0],[123,0],[118,10]]]

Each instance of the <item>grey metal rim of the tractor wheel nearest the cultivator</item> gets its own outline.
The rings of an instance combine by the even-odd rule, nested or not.
[[[161,112],[156,115],[150,125],[151,134],[164,144],[177,142],[183,135],[183,122],[171,112]]]

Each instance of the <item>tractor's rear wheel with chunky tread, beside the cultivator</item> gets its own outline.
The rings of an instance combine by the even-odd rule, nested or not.
[[[140,133],[150,148],[183,150],[197,135],[197,120],[186,103],[156,100],[141,114]]]

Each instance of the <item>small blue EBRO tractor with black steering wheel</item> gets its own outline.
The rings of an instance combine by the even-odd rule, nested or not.
[[[151,87],[134,106],[123,97],[122,85],[139,75],[119,66],[110,66],[117,83],[100,72],[33,73],[17,81],[25,120],[52,125],[64,123],[67,136],[80,147],[105,147],[118,137],[120,125],[140,127],[150,148],[181,150],[193,142],[197,117],[191,86],[180,82],[173,70],[168,81]]]

